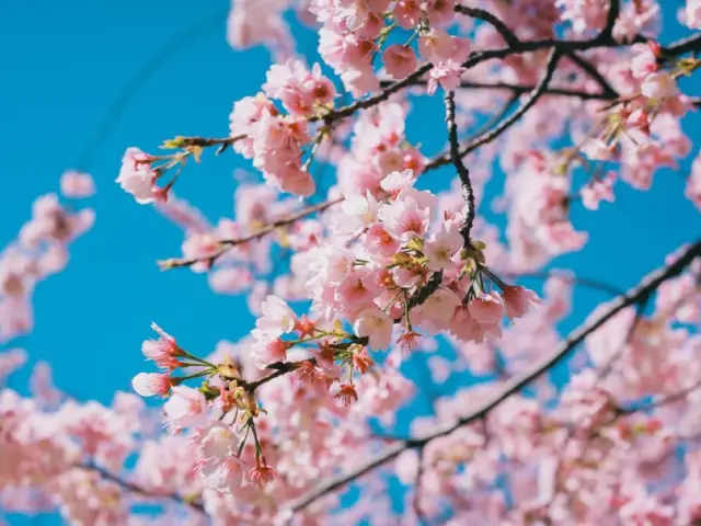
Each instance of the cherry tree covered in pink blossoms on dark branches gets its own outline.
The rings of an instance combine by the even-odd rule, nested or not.
[[[700,30],[701,2],[668,23]],[[116,182],[182,228],[160,266],[246,295],[255,327],[209,352],[153,323],[152,364],[111,407],[45,365],[32,398],[1,390],[2,505],[76,525],[701,524],[701,240],[629,290],[547,270],[587,245],[574,207],[616,206],[692,156],[701,33],[660,32],[656,0],[233,0],[228,42],[274,58],[261,91],[222,115],[226,137],[128,148]],[[426,98],[443,151],[407,139]],[[216,225],[175,194],[212,155],[260,175]],[[481,215],[502,174],[504,229]],[[3,341],[94,220],[61,201],[90,196],[90,175],[60,190],[1,255]],[[610,299],[561,334],[575,286]],[[417,353],[429,381],[405,374]],[[24,361],[1,354],[0,377]],[[473,380],[430,392],[451,370]],[[430,415],[406,416],[416,397]]]

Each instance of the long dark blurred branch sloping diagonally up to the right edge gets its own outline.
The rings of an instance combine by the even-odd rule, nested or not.
[[[575,331],[570,333],[570,335],[567,335],[562,344],[554,348],[553,352],[543,361],[536,364],[536,366],[533,366],[530,370],[527,370],[526,373],[515,376],[510,380],[506,381],[497,393],[495,393],[485,402],[481,403],[474,410],[464,414],[455,424],[441,426],[422,437],[417,437],[411,441],[398,442],[397,444],[387,447],[383,451],[380,451],[361,466],[358,466],[357,468],[346,473],[341,473],[321,483],[309,493],[290,502],[287,507],[292,512],[299,512],[300,510],[315,502],[318,499],[321,499],[322,496],[343,488],[345,484],[357,480],[359,477],[363,477],[374,469],[378,468],[379,466],[382,466],[388,461],[397,458],[402,451],[413,447],[424,447],[427,443],[435,438],[449,435],[463,425],[468,425],[472,422],[484,419],[494,408],[498,407],[509,397],[520,391],[524,387],[528,386],[532,380],[539,378],[545,371],[550,370],[553,366],[559,364],[570,354],[571,351],[573,351],[579,343],[582,343],[584,339],[598,330],[621,310],[632,305],[636,305],[645,298],[648,298],[657,289],[657,287],[659,287],[659,285],[662,285],[667,279],[679,275],[696,258],[699,256],[701,256],[701,240],[698,240],[696,243],[687,247],[681,252],[681,255],[674,262],[645,276],[636,287],[633,287],[627,294],[617,297],[611,304],[609,304],[609,307],[606,309],[606,311],[600,312],[597,317],[590,319],[589,321],[579,325]]]

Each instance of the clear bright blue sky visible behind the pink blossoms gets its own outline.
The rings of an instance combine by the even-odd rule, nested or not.
[[[678,27],[666,4],[670,27]],[[91,135],[135,72],[164,43],[225,11],[228,2],[122,0],[106,2],[3,2],[0,7],[0,247],[30,217],[33,199],[58,190],[58,178],[83,157]],[[663,42],[681,36],[667,31]],[[315,48],[304,33],[303,49]],[[158,271],[154,261],[179,255],[182,233],[150,207],[142,207],[114,183],[128,146],[154,151],[175,135],[223,136],[233,101],[253,94],[264,79],[264,49],[234,53],[225,41],[225,21],[209,24],[145,79],[91,155],[97,195],[94,229],[71,248],[68,268],[43,282],[34,298],[36,328],[13,345],[31,361],[49,361],[59,387],[80,399],[108,402],[145,364],[140,342],[154,320],[197,353],[208,353],[219,339],[246,333],[252,318],[243,298],[214,295],[202,275]],[[701,94],[693,82],[691,94]],[[437,104],[438,103],[438,104]],[[699,116],[694,116],[699,129]],[[410,125],[410,138],[429,152],[443,137],[438,100],[422,106]],[[417,133],[436,126],[432,137]],[[691,127],[687,128],[692,129]],[[696,150],[694,150],[696,152]],[[688,165],[688,163],[687,163]],[[232,214],[233,169],[246,168],[231,152],[187,170],[177,193],[214,220]],[[444,178],[449,172],[440,172]],[[683,197],[683,180],[662,172],[652,192],[621,185],[614,206],[599,213],[574,211],[575,225],[589,230],[586,249],[556,266],[628,287],[658,266],[666,253],[701,233],[699,213]],[[581,320],[596,293],[577,294]],[[2,347],[0,347],[1,351]],[[22,390],[25,374],[12,386]]]

